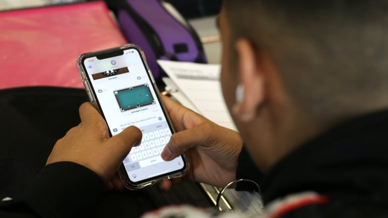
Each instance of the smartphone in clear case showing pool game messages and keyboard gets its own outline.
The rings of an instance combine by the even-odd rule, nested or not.
[[[77,67],[110,136],[128,126],[143,133],[141,145],[132,147],[118,169],[126,188],[137,190],[186,174],[189,164],[184,155],[172,161],[160,156],[174,128],[140,47],[127,44],[82,54]]]

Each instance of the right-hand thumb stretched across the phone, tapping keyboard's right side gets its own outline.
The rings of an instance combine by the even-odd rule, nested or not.
[[[208,137],[203,133],[204,131],[210,131],[208,126],[208,123],[204,122],[191,129],[175,133],[163,149],[161,157],[166,161],[173,160],[192,147],[205,145]]]

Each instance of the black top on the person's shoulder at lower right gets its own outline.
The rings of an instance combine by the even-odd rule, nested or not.
[[[253,173],[252,167],[247,170],[252,163],[242,154],[238,178],[245,177],[244,171],[248,177],[255,175],[265,205],[304,191],[329,199],[284,217],[388,217],[388,111],[329,130],[282,158],[266,175]],[[238,188],[252,188],[244,186]]]

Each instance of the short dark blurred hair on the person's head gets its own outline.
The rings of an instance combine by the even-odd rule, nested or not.
[[[223,8],[232,41],[266,52],[307,113],[340,118],[388,106],[387,0],[224,0]]]

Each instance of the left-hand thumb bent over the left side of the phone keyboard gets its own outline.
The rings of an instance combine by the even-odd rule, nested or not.
[[[139,145],[141,143],[142,133],[139,128],[135,126],[127,127],[121,133],[110,138],[110,144],[115,145],[115,156],[119,157],[119,161],[122,161],[131,151],[132,146]]]

